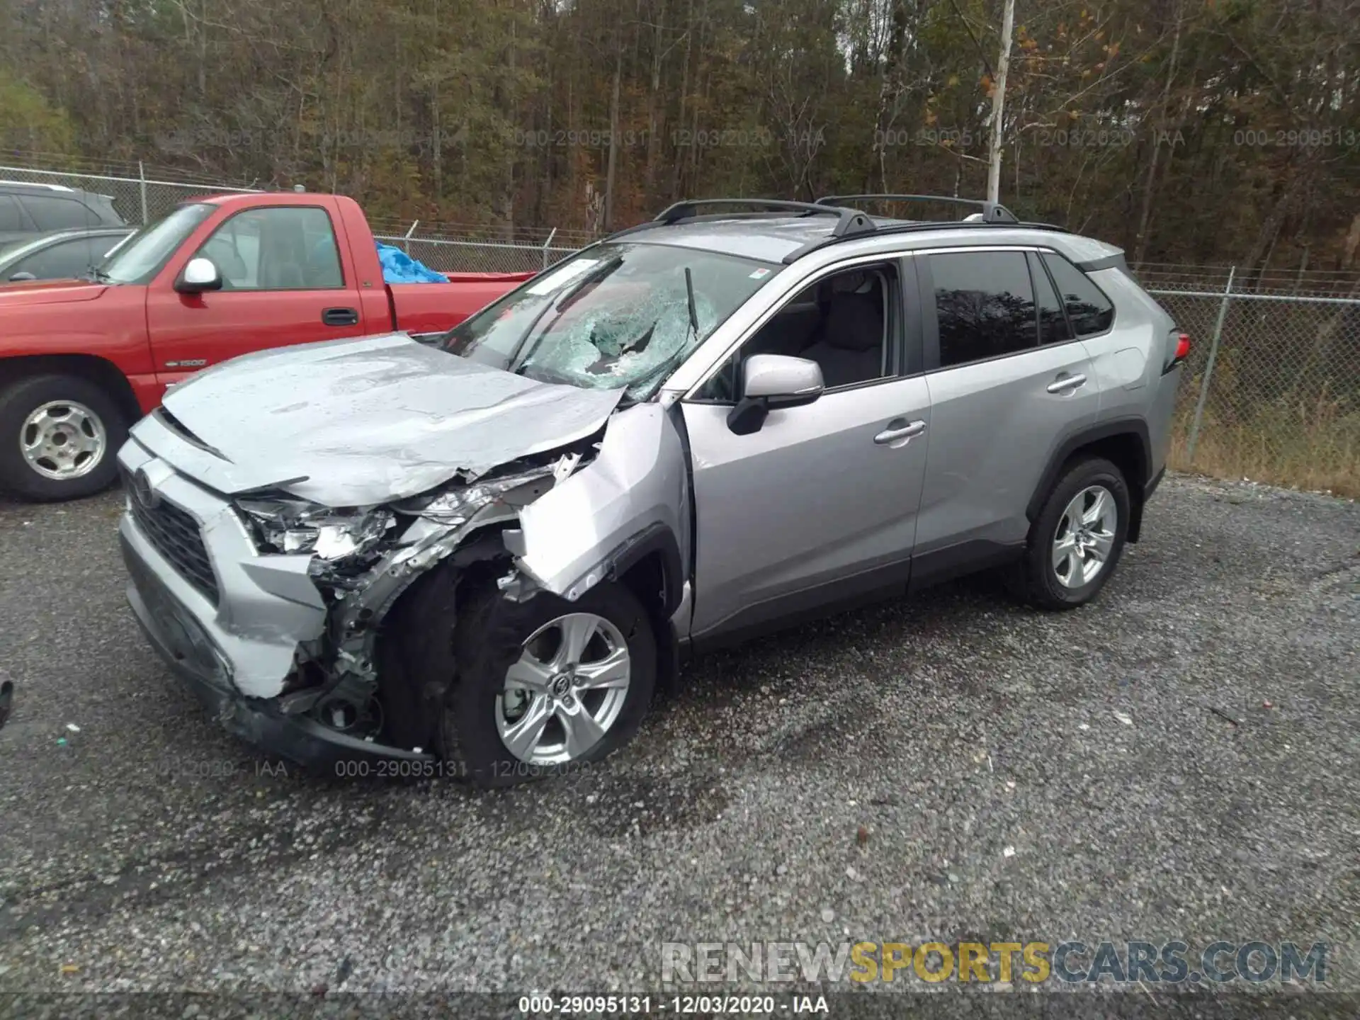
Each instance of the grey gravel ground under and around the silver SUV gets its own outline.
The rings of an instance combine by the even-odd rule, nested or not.
[[[970,937],[1327,940],[1360,990],[1353,502],[1172,477],[1092,607],[975,578],[714,654],[496,793],[215,729],[118,507],[0,503],[0,991],[646,991],[668,940]]]

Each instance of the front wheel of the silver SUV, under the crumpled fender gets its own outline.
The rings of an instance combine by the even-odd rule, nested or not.
[[[646,609],[604,582],[574,602],[487,592],[458,626],[458,677],[441,751],[477,786],[510,786],[600,762],[638,732],[657,679]]]

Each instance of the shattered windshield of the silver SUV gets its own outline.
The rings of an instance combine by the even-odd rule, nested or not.
[[[443,347],[543,382],[645,400],[778,269],[670,245],[594,245],[456,326]]]

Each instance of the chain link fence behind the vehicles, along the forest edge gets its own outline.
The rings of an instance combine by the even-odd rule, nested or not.
[[[107,194],[129,223],[200,194],[257,190],[140,163],[63,163],[72,169],[0,165],[0,180]],[[533,272],[593,239],[547,227],[370,224],[378,241],[446,273]],[[1134,272],[1191,337],[1174,468],[1360,496],[1360,275],[1159,264]]]

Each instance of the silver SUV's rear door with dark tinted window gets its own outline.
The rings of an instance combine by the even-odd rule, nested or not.
[[[930,462],[913,582],[1023,548],[1054,439],[1096,420],[1091,356],[1021,249],[919,258]],[[1038,294],[1038,298],[1036,298]],[[1042,337],[1042,343],[1040,343]]]

